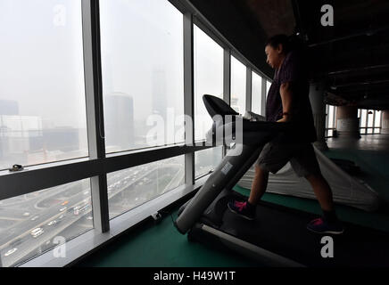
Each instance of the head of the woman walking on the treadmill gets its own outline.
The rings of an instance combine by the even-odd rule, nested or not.
[[[273,69],[277,69],[286,54],[290,52],[290,48],[289,37],[286,35],[270,37],[265,44],[266,62]]]

